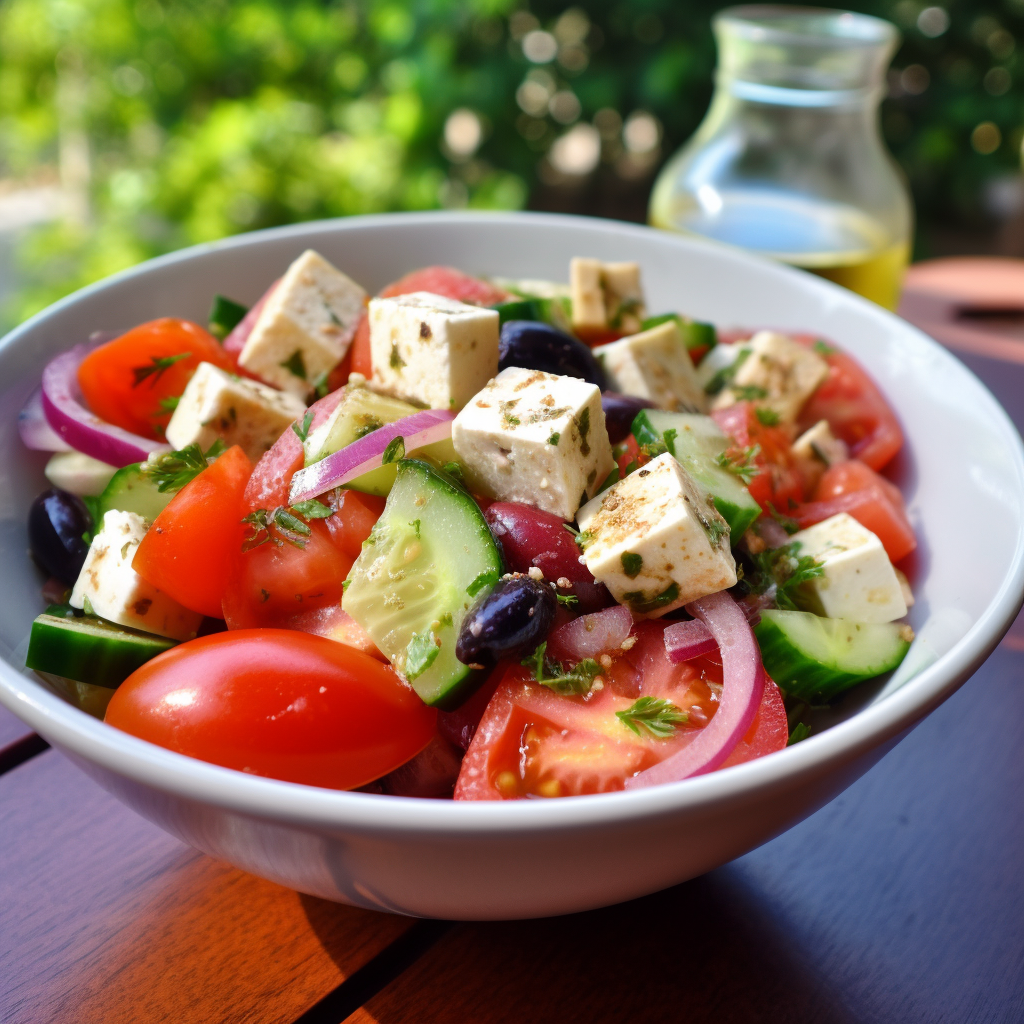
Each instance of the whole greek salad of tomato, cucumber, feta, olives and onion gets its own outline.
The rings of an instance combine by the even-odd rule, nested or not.
[[[900,664],[903,437],[831,342],[313,251],[54,358],[27,665],[257,775],[456,800],[685,779]],[[905,567],[905,566],[904,566]]]

